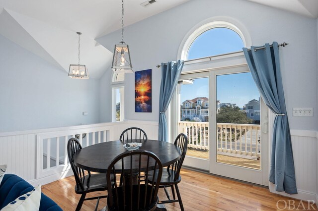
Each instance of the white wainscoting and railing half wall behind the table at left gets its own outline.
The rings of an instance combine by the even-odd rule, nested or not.
[[[91,125],[79,125],[62,128],[50,128],[29,131],[17,131],[0,133],[0,164],[7,164],[7,173],[16,174],[33,186],[38,184],[44,185],[73,174],[72,169],[67,165],[68,160],[63,162],[63,165],[57,165],[46,169],[43,166],[43,155],[55,159],[60,154],[57,153],[61,146],[53,145],[53,150],[47,145],[43,147],[43,141],[50,138],[67,137],[70,138],[75,134],[91,134],[90,143],[92,144],[92,137],[96,136],[96,142],[118,140],[121,132],[128,127],[142,128],[148,139],[158,139],[158,122],[126,120],[123,122],[109,122]],[[98,132],[101,131],[101,132]],[[92,135],[94,133],[95,135]],[[101,134],[101,137],[98,137]],[[67,139],[66,138],[66,139]],[[65,140],[65,139],[64,139]],[[65,141],[63,144],[65,145]],[[95,139],[94,139],[95,140]],[[86,139],[87,141],[87,139]],[[51,143],[58,141],[52,141]],[[83,143],[84,144],[84,143]],[[85,143],[85,145],[89,145]],[[63,146],[64,147],[64,146]],[[47,153],[50,149],[50,153]],[[65,159],[63,150],[63,156]],[[50,163],[50,162],[47,162]],[[64,165],[66,163],[66,165]],[[48,165],[48,164],[47,164]],[[50,165],[50,164],[49,164]],[[52,166],[52,165],[50,165]]]

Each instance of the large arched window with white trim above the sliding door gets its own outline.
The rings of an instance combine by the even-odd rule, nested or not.
[[[236,25],[212,21],[192,29],[183,39],[178,57],[182,60],[198,59],[239,52],[243,47],[251,46],[247,30],[239,23]]]

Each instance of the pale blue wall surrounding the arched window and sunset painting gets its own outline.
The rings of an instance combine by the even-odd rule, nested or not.
[[[134,112],[134,74],[126,74],[125,117],[159,119],[160,62],[177,59],[181,41],[192,27],[215,16],[243,24],[255,46],[288,42],[280,49],[282,77],[291,129],[317,130],[317,20],[243,0],[191,0],[125,28],[134,69],[153,69],[153,112]],[[112,51],[116,31],[98,39]],[[106,83],[101,81],[101,83]],[[105,90],[101,90],[104,92]],[[293,117],[292,107],[313,107],[314,117]]]

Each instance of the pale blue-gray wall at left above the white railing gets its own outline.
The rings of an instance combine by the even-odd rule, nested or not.
[[[71,79],[0,35],[0,132],[97,123],[98,99],[99,80]]]

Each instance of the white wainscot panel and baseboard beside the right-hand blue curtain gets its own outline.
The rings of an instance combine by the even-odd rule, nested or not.
[[[271,192],[301,200],[313,200],[318,203],[318,139],[316,134],[316,131],[291,130],[298,194],[289,195],[285,192],[276,192],[275,185],[269,183]]]

